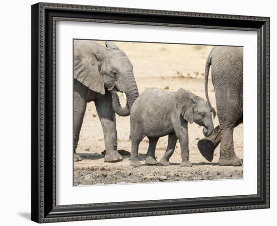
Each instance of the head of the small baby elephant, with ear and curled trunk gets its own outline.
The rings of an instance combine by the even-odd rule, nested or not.
[[[203,135],[209,137],[214,131],[210,107],[203,98],[180,88],[175,96],[178,112],[190,124],[203,126]]]

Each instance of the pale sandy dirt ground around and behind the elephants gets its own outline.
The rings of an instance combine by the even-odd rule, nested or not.
[[[100,42],[104,44],[103,42]],[[116,42],[133,64],[134,76],[138,91],[157,87],[177,91],[180,87],[194,92],[205,99],[204,67],[211,46],[148,44]],[[211,75],[210,75],[211,77]],[[125,99],[118,93],[121,105]],[[216,108],[214,87],[209,79],[209,97],[212,106]],[[129,117],[116,116],[118,149],[130,151]],[[218,118],[214,119],[215,127]],[[188,125],[189,133],[189,160],[192,167],[180,167],[180,144],[177,142],[169,166],[130,167],[129,156],[118,163],[105,163],[101,152],[105,149],[103,131],[96,113],[94,102],[87,105],[86,115],[82,126],[77,153],[82,161],[74,163],[74,184],[117,184],[117,183],[144,183],[160,181],[185,180],[217,180],[237,179],[243,177],[243,167],[223,167],[218,165],[219,146],[215,150],[214,160],[210,163],[202,157],[197,148],[201,139],[202,128],[193,123]],[[159,161],[165,153],[168,137],[159,139],[156,157]],[[140,158],[145,160],[148,149],[148,139],[145,138],[139,148]],[[243,125],[234,130],[234,148],[237,156],[243,158]],[[142,162],[144,163],[144,162]]]

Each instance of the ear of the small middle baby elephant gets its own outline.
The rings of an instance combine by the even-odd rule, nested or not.
[[[196,104],[195,95],[180,88],[175,96],[177,111],[183,116],[185,121],[193,123],[193,108]]]

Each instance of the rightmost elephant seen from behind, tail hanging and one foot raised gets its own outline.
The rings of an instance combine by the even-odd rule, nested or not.
[[[241,124],[243,115],[243,55],[241,47],[214,47],[205,66],[205,94],[210,110],[214,112],[207,92],[207,82],[212,65],[212,81],[215,88],[219,126],[210,137],[198,142],[198,149],[209,161],[220,146],[220,166],[241,166],[242,161],[234,151],[234,127]]]

